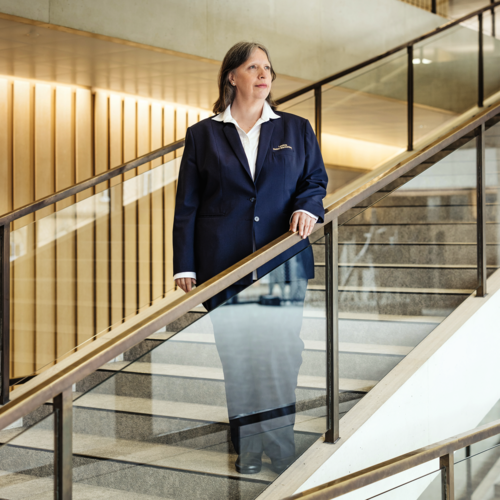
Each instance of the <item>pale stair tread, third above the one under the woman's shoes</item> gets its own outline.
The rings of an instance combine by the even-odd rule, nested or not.
[[[215,344],[213,333],[191,333],[181,332],[172,339],[172,342],[180,343],[199,343]],[[321,340],[303,340],[304,347],[308,351],[325,351],[326,341]],[[406,356],[411,347],[397,345],[379,345],[379,344],[360,344],[355,342],[340,342],[340,352],[349,352],[357,354],[385,354],[394,356]]]

